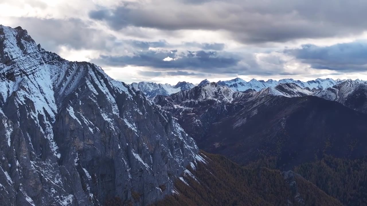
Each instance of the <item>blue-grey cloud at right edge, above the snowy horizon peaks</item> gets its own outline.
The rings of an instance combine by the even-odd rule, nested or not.
[[[297,49],[286,49],[285,54],[294,56],[315,69],[353,72],[367,69],[367,42],[335,44],[318,47],[312,44]]]

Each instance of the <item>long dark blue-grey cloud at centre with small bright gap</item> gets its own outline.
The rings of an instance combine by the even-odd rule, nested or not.
[[[164,61],[170,57],[175,60]],[[268,65],[263,62],[269,61]],[[284,72],[284,61],[277,57],[262,58],[261,62],[254,54],[233,54],[217,51],[142,51],[132,56],[101,55],[93,59],[93,63],[101,66],[124,67],[127,65],[154,69],[143,73],[145,76],[211,76],[215,74],[237,75],[274,75]],[[260,64],[259,64],[260,63]],[[269,66],[270,65],[270,66]]]

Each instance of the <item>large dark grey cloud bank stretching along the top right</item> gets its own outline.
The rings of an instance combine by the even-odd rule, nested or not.
[[[113,10],[90,12],[113,29],[127,26],[161,30],[226,30],[244,43],[284,42],[360,34],[367,28],[367,2],[280,0],[201,1],[158,0],[154,4],[128,4]],[[167,8],[170,11],[167,12]]]

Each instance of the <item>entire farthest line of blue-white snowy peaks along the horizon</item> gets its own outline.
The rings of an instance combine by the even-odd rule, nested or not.
[[[290,83],[296,84],[300,88],[308,89],[309,91],[316,91],[333,87],[334,85],[337,85],[345,81],[352,81],[352,80],[340,80],[340,79],[333,80],[331,78],[326,79],[317,78],[316,80],[303,82],[294,79],[281,79],[279,81],[271,79],[267,81],[252,79],[251,81],[247,82],[241,78],[235,78],[233,80],[228,81],[218,81],[217,84],[227,86],[231,88],[233,91],[239,91],[239,92],[247,91],[249,89],[252,89],[254,91],[261,91],[262,89],[266,88],[275,88],[279,84],[290,84]],[[366,82],[359,79],[354,81],[359,83]],[[143,94],[147,98],[153,98],[156,95],[169,96],[173,93],[189,90],[194,88],[195,86],[201,86],[208,83],[210,83],[210,81],[205,79],[197,85],[185,81],[178,82],[176,85],[160,84],[154,82],[139,82],[139,83],[134,82],[130,85],[137,91],[143,92]]]

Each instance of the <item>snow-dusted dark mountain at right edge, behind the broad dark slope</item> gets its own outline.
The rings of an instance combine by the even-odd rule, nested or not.
[[[367,83],[364,81],[344,81],[312,94],[327,100],[337,101],[357,111],[367,113]]]

